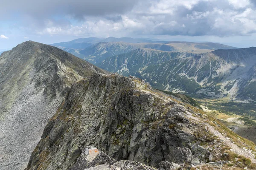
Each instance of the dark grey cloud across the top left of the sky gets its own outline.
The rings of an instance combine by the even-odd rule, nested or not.
[[[83,19],[87,15],[123,14],[136,3],[137,0],[2,0],[0,14],[30,14],[34,17],[69,14]]]

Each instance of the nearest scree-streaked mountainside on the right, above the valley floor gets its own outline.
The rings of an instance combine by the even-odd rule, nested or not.
[[[151,65],[135,75],[166,91],[256,100],[255,64],[255,47],[216,50]]]

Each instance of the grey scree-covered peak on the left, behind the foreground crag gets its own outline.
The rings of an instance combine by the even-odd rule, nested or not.
[[[105,73],[58,48],[23,42],[0,56],[0,169],[20,170],[75,82]]]

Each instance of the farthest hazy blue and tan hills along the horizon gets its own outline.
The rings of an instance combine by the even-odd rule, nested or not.
[[[52,44],[77,57],[93,64],[102,62],[113,55],[128,53],[137,48],[151,48],[160,51],[184,51],[191,53],[209,52],[216,49],[234,49],[228,45],[212,42],[168,42],[144,38],[114,38],[99,39],[95,37],[76,39],[70,42]]]

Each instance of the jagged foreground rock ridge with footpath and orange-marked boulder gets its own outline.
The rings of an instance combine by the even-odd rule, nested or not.
[[[255,145],[135,77],[72,85],[26,170],[253,169]]]

